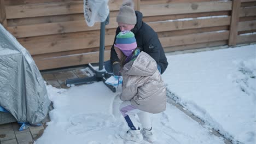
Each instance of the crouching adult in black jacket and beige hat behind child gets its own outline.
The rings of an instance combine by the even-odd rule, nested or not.
[[[164,53],[164,49],[159,41],[158,34],[142,21],[142,13],[134,11],[131,7],[131,3],[124,3],[120,8],[117,16],[117,22],[119,27],[115,33],[115,39],[119,32],[127,30],[132,31],[135,34],[137,46],[141,51],[148,53],[152,58],[155,59],[158,64],[158,70],[160,73],[164,73],[167,68],[168,62]],[[112,67],[112,68],[111,68]],[[117,53],[114,50],[114,44],[111,47],[110,62],[105,64],[107,71],[112,71],[114,75],[119,74],[120,64],[117,57]]]

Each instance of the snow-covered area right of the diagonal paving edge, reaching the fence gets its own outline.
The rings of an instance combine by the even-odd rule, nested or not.
[[[255,143],[256,45],[167,57],[178,103],[231,140]]]

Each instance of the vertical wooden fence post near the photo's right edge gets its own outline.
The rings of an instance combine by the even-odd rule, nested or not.
[[[229,33],[229,45],[235,46],[237,43],[237,28],[239,22],[239,10],[241,7],[241,0],[233,0],[232,3],[232,14],[230,23],[230,33]]]

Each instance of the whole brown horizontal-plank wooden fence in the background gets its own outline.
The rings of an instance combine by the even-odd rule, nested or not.
[[[105,60],[122,1],[109,0]],[[88,27],[81,0],[0,0],[0,22],[40,70],[98,62],[100,22]],[[165,52],[256,42],[256,0],[135,0]]]

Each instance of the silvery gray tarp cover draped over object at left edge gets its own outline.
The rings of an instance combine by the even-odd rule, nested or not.
[[[50,102],[30,53],[0,24],[0,106],[18,122],[38,124]]]

